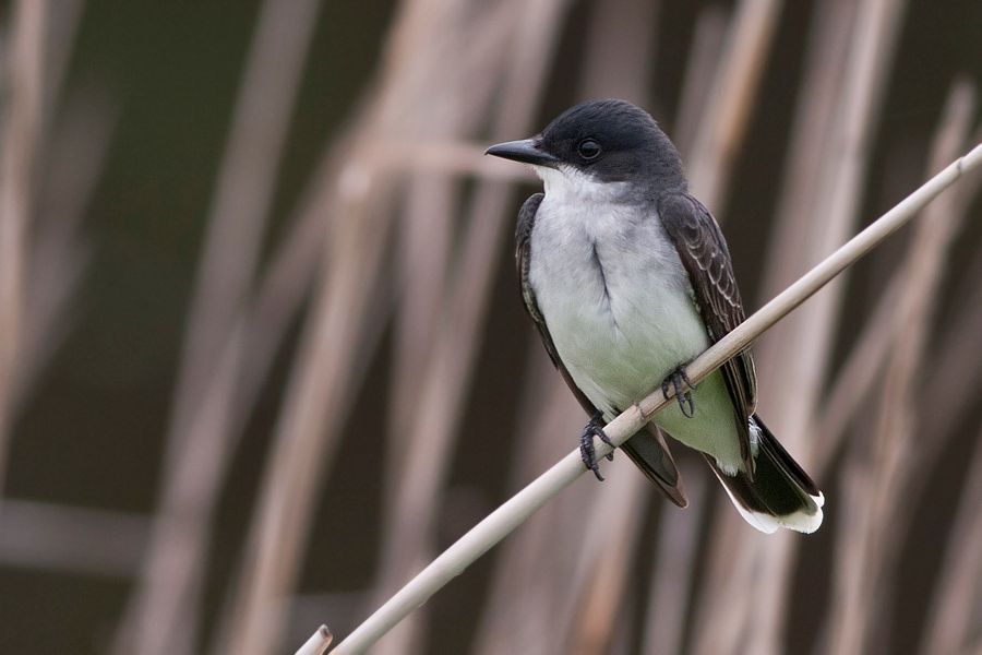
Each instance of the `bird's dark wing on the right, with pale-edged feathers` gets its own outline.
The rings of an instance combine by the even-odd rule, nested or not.
[[[679,259],[688,273],[695,303],[711,342],[717,342],[746,318],[730,251],[716,219],[703,204],[685,193],[666,193],[658,201],[658,215]],[[757,404],[754,359],[743,352],[721,368],[733,402],[740,454],[753,475],[747,419]]]

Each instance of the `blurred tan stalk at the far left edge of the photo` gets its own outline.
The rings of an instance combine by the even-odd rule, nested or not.
[[[34,213],[34,167],[44,103],[48,3],[14,4],[0,152],[0,491],[12,428],[14,372],[24,329],[27,227]]]

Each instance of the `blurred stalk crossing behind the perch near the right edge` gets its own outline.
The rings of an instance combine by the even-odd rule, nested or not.
[[[938,169],[961,148],[973,110],[972,87],[956,83],[942,116],[929,170]],[[846,460],[847,479],[853,480],[859,491],[851,498],[862,498],[864,502],[854,510],[859,517],[855,525],[838,535],[841,557],[854,561],[839,569],[842,574],[835,580],[838,603],[829,643],[836,653],[862,652],[873,641],[879,643],[874,640],[873,630],[884,617],[874,608],[889,604],[888,573],[895,565],[896,545],[902,536],[896,528],[901,523],[896,508],[913,504],[906,493],[906,480],[923,471],[920,456],[914,455],[915,401],[948,249],[963,218],[963,214],[953,212],[955,200],[956,193],[939,199],[918,223],[894,308],[894,320],[903,329],[896,332],[889,350],[875,429],[871,439],[850,444]],[[855,574],[846,575],[847,571]]]

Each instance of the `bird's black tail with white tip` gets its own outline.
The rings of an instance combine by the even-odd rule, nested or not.
[[[778,527],[812,533],[822,525],[825,497],[809,474],[778,443],[764,421],[751,417],[756,437],[753,478],[745,472],[727,475],[712,457],[706,457],[747,523],[765,533]]]

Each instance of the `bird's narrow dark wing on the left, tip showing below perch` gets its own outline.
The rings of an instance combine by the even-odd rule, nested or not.
[[[579,401],[583,408],[592,416],[597,413],[597,408],[576,385],[570,371],[563,365],[562,359],[560,359],[555,344],[552,342],[552,335],[549,334],[549,327],[546,325],[546,319],[539,311],[536,294],[528,278],[531,230],[536,223],[536,212],[542,202],[542,193],[529,196],[518,212],[518,227],[515,230],[515,263],[518,269],[518,287],[522,291],[522,299],[525,301],[525,309],[528,311],[528,315],[531,317],[536,327],[539,329],[539,336],[542,337],[542,344],[546,346],[546,352],[549,353],[549,358],[552,359],[553,366],[563,376],[563,380],[566,381],[566,385],[576,396],[576,400]],[[682,478],[679,476],[679,469],[664,438],[655,424],[648,424],[645,430],[645,432],[638,432],[628,439],[621,446],[622,450],[627,453],[627,456],[644,472],[648,479],[664,491],[666,496],[673,503],[680,508],[686,507],[688,500],[685,498],[685,491],[682,488]]]

